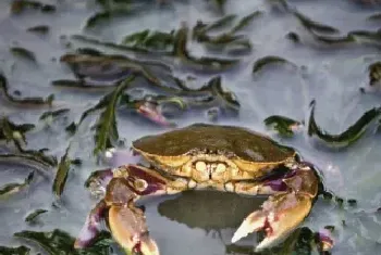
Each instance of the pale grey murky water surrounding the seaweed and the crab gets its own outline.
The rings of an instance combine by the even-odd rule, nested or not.
[[[54,14],[27,11],[22,15],[10,14],[11,2],[0,2],[0,69],[8,78],[11,91],[19,90],[22,97],[47,97],[53,93],[54,110],[69,107],[71,112],[65,118],[42,122],[38,118],[47,107],[19,106],[1,98],[0,114],[16,123],[36,125],[36,128],[27,133],[28,149],[48,148],[49,154],[60,158],[69,142],[72,142],[71,155],[79,157],[83,164],[70,170],[59,206],[52,206],[54,196],[51,186],[56,169],[38,168],[37,171],[45,174],[39,175],[27,191],[0,202],[0,244],[7,246],[22,244],[23,241],[13,238],[12,234],[25,229],[51,231],[60,228],[75,237],[96,202],[84,188],[84,181],[93,170],[106,167],[97,165],[93,155],[91,125],[97,115],[86,119],[74,137],[70,137],[64,128],[71,122],[77,122],[86,109],[95,105],[111,90],[67,89],[54,87],[51,81],[74,79],[72,72],[60,63],[59,59],[79,47],[91,47],[110,54],[126,54],[132,58],[134,54],[105,47],[96,48],[89,43],[71,40],[70,36],[86,34],[96,36],[99,40],[120,42],[124,36],[143,29],[170,31],[179,29],[182,22],[193,27],[198,20],[211,22],[223,16],[204,0],[172,0],[168,1],[170,3],[167,7],[158,7],[155,1],[140,1],[139,4],[146,4],[146,9],[138,15],[106,20],[85,30],[86,20],[99,10],[93,1],[45,1],[58,7]],[[316,99],[316,118],[319,125],[331,133],[344,131],[366,111],[380,104],[379,94],[359,92],[359,88],[368,82],[367,66],[380,60],[379,48],[360,43],[332,46],[317,42],[294,15],[282,11],[281,4],[275,3],[276,1],[270,0],[226,1],[224,15],[236,14],[242,17],[256,10],[262,11],[262,15],[245,28],[253,50],[239,55],[242,63],[237,68],[210,74],[182,68],[173,61],[164,61],[175,68],[174,73],[179,77],[196,77],[193,84],[197,87],[220,75],[222,86],[236,94],[241,109],[238,117],[224,118],[219,120],[219,124],[248,127],[270,133],[274,139],[295,146],[306,160],[316,163],[321,169],[328,189],[342,197],[357,200],[356,207],[344,208],[335,203],[318,201],[304,222],[304,226],[315,230],[327,225],[335,226],[333,254],[379,254],[381,219],[380,213],[374,212],[381,207],[380,133],[366,136],[348,149],[330,151],[312,144],[305,133],[299,133],[293,139],[281,139],[269,132],[263,124],[263,119],[270,115],[305,119],[310,101]],[[381,10],[377,5],[361,8],[351,0],[294,0],[288,1],[288,4],[314,21],[337,28],[342,35],[352,30],[379,28],[379,21],[367,21],[369,15]],[[44,36],[26,31],[36,25],[49,25],[50,31]],[[286,38],[290,31],[299,35],[299,43]],[[71,41],[70,46],[67,41]],[[9,50],[12,46],[24,47],[34,52],[37,64],[12,55]],[[189,43],[188,48],[193,55],[222,56],[218,51],[208,51],[195,42]],[[282,56],[303,68],[278,66],[253,74],[254,62],[266,55]],[[138,58],[150,59],[149,55]],[[176,119],[179,126],[198,122],[209,120],[204,113]],[[118,116],[118,128],[127,145],[142,136],[165,130],[123,111]],[[9,162],[0,163],[0,184],[22,181],[33,170],[29,166]],[[220,203],[210,203],[211,199]],[[162,254],[221,255],[228,254],[226,245],[230,244],[231,237],[244,215],[257,208],[261,202],[253,201],[251,205],[236,196],[192,193],[184,197],[170,197],[168,201],[164,197],[149,201],[146,215],[151,235],[157,240]],[[28,226],[24,218],[37,208],[49,212],[41,216],[41,224]],[[256,234],[251,234],[239,244],[256,243]]]

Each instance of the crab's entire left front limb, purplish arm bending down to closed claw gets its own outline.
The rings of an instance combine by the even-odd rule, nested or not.
[[[119,167],[113,171],[113,178],[107,187],[103,199],[105,207],[109,208],[108,227],[114,240],[127,254],[135,252],[143,255],[158,255],[158,246],[148,233],[145,214],[135,206],[135,202],[143,197],[174,194],[187,189],[188,183],[184,179],[168,179],[155,170],[137,165]],[[91,211],[86,222],[94,222],[89,219],[99,219],[98,212]],[[89,225],[85,225],[84,229],[90,229]],[[83,232],[86,232],[85,230]]]

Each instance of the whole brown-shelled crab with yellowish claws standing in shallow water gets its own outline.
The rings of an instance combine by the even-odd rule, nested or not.
[[[236,126],[194,124],[132,143],[130,164],[98,170],[88,179],[105,197],[87,216],[75,247],[89,245],[106,218],[113,239],[130,253],[158,255],[144,211],[136,202],[147,196],[211,189],[243,195],[269,195],[249,214],[232,242],[265,231],[256,251],[284,240],[309,215],[320,177],[312,164],[269,137]],[[229,208],[226,208],[229,209]],[[332,242],[322,240],[323,250]]]

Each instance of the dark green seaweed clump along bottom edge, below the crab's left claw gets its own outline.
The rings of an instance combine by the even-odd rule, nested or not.
[[[113,243],[110,233],[106,231],[97,237],[91,247],[82,250],[75,250],[74,238],[59,229],[51,232],[24,230],[14,233],[14,237],[37,243],[50,255],[110,255],[110,244]]]

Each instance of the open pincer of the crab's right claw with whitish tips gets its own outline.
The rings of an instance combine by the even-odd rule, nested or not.
[[[247,234],[265,230],[266,238],[256,252],[270,247],[284,240],[306,218],[311,209],[311,197],[306,194],[280,193],[270,196],[261,211],[248,215],[232,238],[235,243]]]

